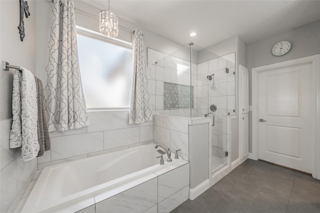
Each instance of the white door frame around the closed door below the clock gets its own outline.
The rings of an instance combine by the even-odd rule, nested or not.
[[[320,54],[252,68],[252,154],[250,159],[258,160],[258,73],[307,63],[311,63],[312,66],[312,114],[315,115],[312,120],[314,127],[312,130],[312,177],[320,180],[320,132],[316,131],[320,128]]]

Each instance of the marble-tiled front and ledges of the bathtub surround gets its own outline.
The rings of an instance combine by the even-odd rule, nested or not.
[[[32,179],[13,213],[19,213],[41,171]],[[135,186],[135,187],[132,187]],[[119,190],[122,190],[119,193]],[[170,212],[188,199],[189,164],[181,161],[123,186],[74,203],[65,212],[77,213],[157,213]],[[108,197],[107,199],[105,199]],[[137,203],[139,205],[137,205]],[[80,210],[80,211],[79,211]]]

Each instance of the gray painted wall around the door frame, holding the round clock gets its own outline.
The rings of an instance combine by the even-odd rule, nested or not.
[[[288,40],[292,49],[283,56],[273,56],[271,47],[278,41]],[[247,45],[249,69],[249,105],[252,104],[251,69],[267,64],[320,54],[320,20],[296,27]],[[249,114],[249,152],[252,152],[251,113]]]

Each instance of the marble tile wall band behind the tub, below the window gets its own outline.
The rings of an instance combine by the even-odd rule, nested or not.
[[[51,132],[51,150],[38,158],[38,169],[151,143],[152,121],[128,124],[128,111],[89,112],[90,126]]]

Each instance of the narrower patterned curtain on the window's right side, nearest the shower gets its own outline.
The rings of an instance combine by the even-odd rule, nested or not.
[[[136,28],[132,37],[133,77],[129,124],[152,121],[149,82],[142,31]]]

